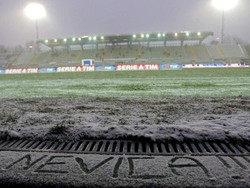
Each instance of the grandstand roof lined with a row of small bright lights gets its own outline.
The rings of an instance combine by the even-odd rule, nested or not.
[[[73,46],[73,45],[87,45],[87,44],[115,44],[115,43],[136,43],[136,42],[155,42],[155,41],[199,41],[202,42],[208,36],[212,36],[213,32],[189,32],[182,31],[176,33],[135,33],[122,35],[107,35],[107,36],[82,36],[70,38],[54,38],[39,40],[39,44],[44,44],[48,47],[56,46]]]

